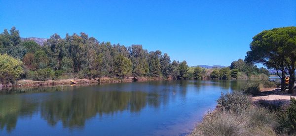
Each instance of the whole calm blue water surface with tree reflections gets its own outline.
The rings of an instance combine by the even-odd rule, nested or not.
[[[0,91],[0,135],[185,135],[247,81],[155,81]]]

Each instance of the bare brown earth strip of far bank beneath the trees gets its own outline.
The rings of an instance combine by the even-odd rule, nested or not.
[[[27,88],[27,87],[46,87],[46,86],[59,86],[59,85],[71,85],[73,79],[62,79],[62,80],[45,80],[45,81],[33,81],[33,80],[18,80],[14,84],[0,84],[0,89],[5,88]],[[117,78],[98,78],[98,79],[75,79],[74,81],[77,82],[78,85],[81,84],[108,84],[108,83],[129,83],[129,82],[144,82],[144,81],[150,81],[150,80],[164,80],[162,78],[146,78],[146,77],[140,77],[140,78],[134,78],[134,77],[128,77],[125,79],[117,79]]]

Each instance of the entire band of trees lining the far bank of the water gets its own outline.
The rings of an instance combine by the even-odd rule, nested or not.
[[[171,61],[167,53],[148,51],[142,45],[125,46],[99,42],[86,33],[53,34],[43,46],[22,40],[12,27],[0,34],[0,82],[18,79],[148,77],[184,79],[248,79],[268,75],[265,68],[239,59],[229,67],[206,69],[189,67],[186,61]]]

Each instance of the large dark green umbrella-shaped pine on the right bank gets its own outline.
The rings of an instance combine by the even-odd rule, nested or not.
[[[296,65],[296,27],[265,30],[253,37],[246,61],[261,63],[277,71],[284,90],[285,71],[289,72],[289,93],[293,93]],[[278,71],[281,71],[281,75]]]

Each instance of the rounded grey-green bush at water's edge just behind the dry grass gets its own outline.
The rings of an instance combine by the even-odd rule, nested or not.
[[[221,93],[221,97],[217,100],[218,107],[222,110],[240,112],[251,106],[250,96],[242,94],[242,92],[227,92],[225,95]]]

